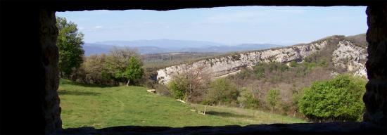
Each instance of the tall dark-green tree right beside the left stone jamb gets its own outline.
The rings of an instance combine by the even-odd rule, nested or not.
[[[73,69],[79,68],[83,62],[83,34],[78,32],[75,23],[68,22],[66,18],[57,17],[56,27],[59,30],[56,45],[59,51],[58,65],[61,77],[63,77],[63,73],[65,76],[70,77]]]

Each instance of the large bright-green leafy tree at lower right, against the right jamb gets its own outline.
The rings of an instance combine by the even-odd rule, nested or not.
[[[300,112],[314,122],[360,120],[364,113],[365,84],[364,79],[352,75],[314,82],[298,102]]]

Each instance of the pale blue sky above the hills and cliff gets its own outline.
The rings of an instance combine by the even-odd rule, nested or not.
[[[174,11],[77,11],[56,15],[77,23],[84,41],[179,39],[222,44],[307,43],[367,32],[365,6],[236,6]]]

